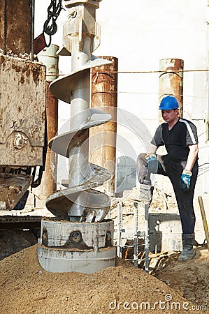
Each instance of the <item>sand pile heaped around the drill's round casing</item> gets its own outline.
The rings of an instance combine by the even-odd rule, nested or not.
[[[36,251],[31,246],[1,260],[1,313],[200,313],[171,287],[120,258],[117,267],[96,274],[53,274],[38,264]]]

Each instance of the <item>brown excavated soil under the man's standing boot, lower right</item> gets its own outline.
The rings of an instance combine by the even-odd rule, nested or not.
[[[164,255],[163,267],[157,267],[154,276],[172,287],[199,308],[206,306],[209,313],[209,252],[196,248],[196,256],[187,262],[178,262],[178,254]]]

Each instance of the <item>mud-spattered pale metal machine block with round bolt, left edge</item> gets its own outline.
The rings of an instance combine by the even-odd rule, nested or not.
[[[45,66],[0,55],[0,165],[42,165]]]

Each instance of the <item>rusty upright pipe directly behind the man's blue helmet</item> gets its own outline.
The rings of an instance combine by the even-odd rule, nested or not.
[[[178,99],[180,106],[180,117],[183,117],[183,69],[182,59],[161,59],[159,60],[159,103],[166,95],[173,95]],[[159,123],[162,122],[159,112]]]

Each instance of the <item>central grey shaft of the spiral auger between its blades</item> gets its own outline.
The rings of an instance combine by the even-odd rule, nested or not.
[[[84,38],[83,50],[78,51],[78,38],[73,38],[71,68],[82,68],[91,59],[91,39]],[[80,77],[76,89],[71,91],[71,130],[76,130],[82,124],[81,112],[89,108],[90,72],[85,71]],[[79,116],[80,114],[80,116]],[[79,119],[80,117],[80,119]],[[69,187],[81,184],[87,178],[89,170],[89,129],[83,131],[80,144],[75,145],[69,156]],[[79,204],[79,202],[78,202]]]

